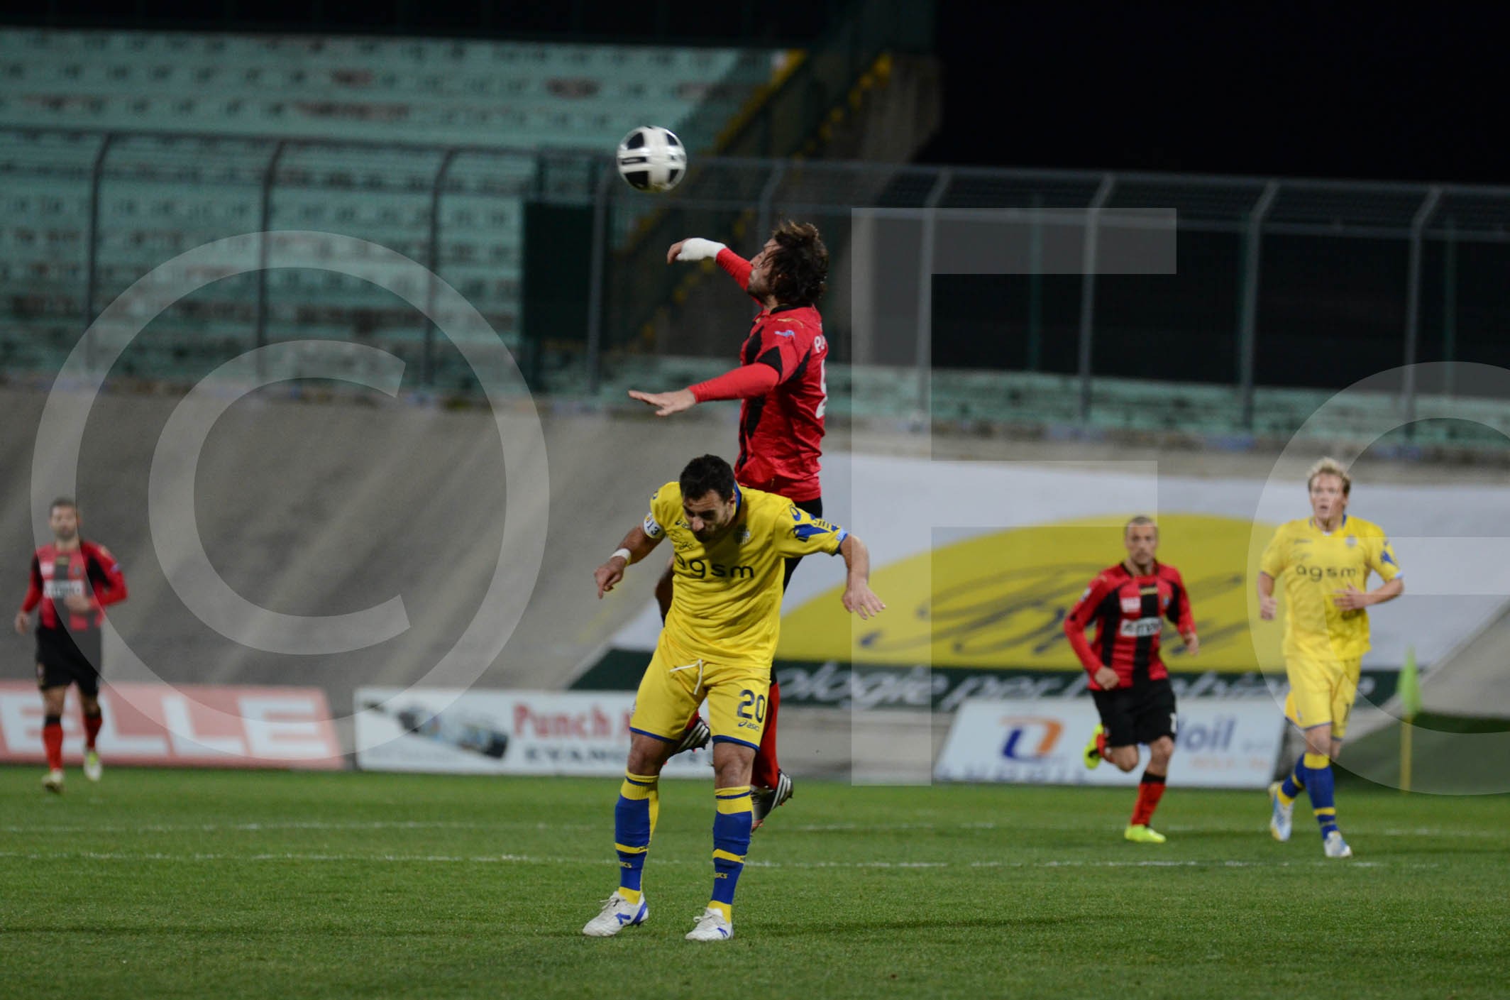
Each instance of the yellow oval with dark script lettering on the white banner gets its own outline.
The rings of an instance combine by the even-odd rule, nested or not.
[[[832,588],[782,615],[776,657],[1078,671],[1065,616],[1090,580],[1126,554],[1117,520],[1078,518],[977,535],[873,569],[871,588],[886,601],[886,613],[871,621],[837,615],[843,588]],[[1200,636],[1200,653],[1191,659],[1166,621],[1161,656],[1170,671],[1256,671],[1284,663],[1284,610],[1276,621],[1259,621],[1247,569],[1252,539],[1267,539],[1271,530],[1259,526],[1255,532],[1247,518],[1160,518],[1158,559],[1184,577]]]

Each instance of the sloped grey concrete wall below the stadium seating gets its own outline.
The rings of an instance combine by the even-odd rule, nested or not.
[[[646,387],[661,388],[661,387]],[[0,390],[0,568],[20,603],[33,529],[33,435],[45,393]],[[178,405],[171,396],[101,396],[92,409],[79,470],[85,535],[121,559],[131,597],[112,610],[122,644],[107,647],[107,677],[174,683],[316,684],[338,716],[362,684],[409,684],[455,647],[477,615],[498,563],[504,518],[519,517],[544,535],[538,577],[528,545],[503,553],[510,594],[528,604],[501,653],[486,640],[464,651],[459,666],[432,686],[556,689],[595,656],[651,600],[658,563],[631,571],[610,600],[598,601],[592,571],[634,526],[652,489],[704,452],[732,458],[732,405],[657,420],[645,411],[545,412],[547,482],[506,488],[524,464],[536,415],[522,406],[503,417],[509,440],[482,409],[444,409],[387,399],[291,397],[263,390],[234,403],[214,424],[198,464],[195,517],[204,550],[246,600],[285,615],[358,612],[391,597],[403,601],[409,628],[370,648],[299,656],[231,642],[201,622],[175,594],[148,523],[148,479],[159,435]],[[1018,462],[1157,459],[1181,476],[1265,477],[1276,456],[1161,447],[1158,441],[1052,441],[1001,437],[933,438],[901,426],[835,427],[829,462],[844,453],[933,455]],[[536,458],[541,458],[536,455]],[[1297,480],[1314,456],[1280,470]],[[60,471],[44,456],[42,494]],[[1365,461],[1359,477],[1388,482],[1504,482],[1496,465],[1425,465]],[[834,511],[837,520],[847,512]],[[853,526],[864,535],[864,526]],[[187,526],[186,526],[187,530]],[[486,609],[482,609],[486,610]],[[30,639],[3,642],[3,674],[30,677]],[[266,633],[264,633],[266,634]],[[1493,659],[1493,657],[1490,657]],[[1486,660],[1487,662],[1487,660]],[[1487,668],[1486,668],[1487,669]],[[1474,687],[1474,690],[1478,690]],[[1472,699],[1472,692],[1468,695]],[[1459,698],[1460,699],[1460,698]],[[846,711],[788,708],[784,746],[794,773],[853,773],[852,761],[879,755],[873,733]],[[889,718],[915,746],[897,745],[906,764],[936,745],[947,718]],[[906,743],[906,740],[903,740]],[[923,751],[926,752],[926,751]],[[923,775],[918,775],[923,778]]]

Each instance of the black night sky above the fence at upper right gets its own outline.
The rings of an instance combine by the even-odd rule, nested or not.
[[[1469,8],[942,3],[921,159],[1505,184],[1502,39]]]

